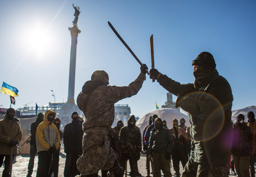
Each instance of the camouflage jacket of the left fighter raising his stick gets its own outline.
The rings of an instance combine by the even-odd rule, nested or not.
[[[114,104],[119,100],[137,94],[145,79],[145,74],[140,73],[137,79],[128,86],[102,85],[95,88],[89,99],[86,112],[83,112],[86,117],[86,121],[83,123],[83,131],[88,134],[114,135],[115,131],[111,128],[115,118]],[[88,94],[81,92],[77,97],[77,105],[82,111],[87,96]]]

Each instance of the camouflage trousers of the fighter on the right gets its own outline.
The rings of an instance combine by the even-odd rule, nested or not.
[[[192,157],[189,158],[181,177],[227,177],[226,165],[199,164]]]

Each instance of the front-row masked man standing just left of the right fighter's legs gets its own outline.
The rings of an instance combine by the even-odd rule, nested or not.
[[[178,127],[178,120],[175,118],[173,120],[173,128],[170,128],[170,131],[174,140],[174,147],[171,152],[173,168],[176,172],[176,176],[180,177],[180,161],[183,168],[188,161],[186,132],[183,128]]]

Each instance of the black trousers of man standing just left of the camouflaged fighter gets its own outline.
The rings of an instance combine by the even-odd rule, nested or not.
[[[79,151],[70,151],[66,153],[64,177],[70,177],[70,176],[74,177],[80,174],[76,166],[76,161],[81,155],[82,155],[82,152],[79,152]]]

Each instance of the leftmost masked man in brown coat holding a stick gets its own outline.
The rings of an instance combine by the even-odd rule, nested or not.
[[[10,160],[13,161],[14,154],[17,154],[17,144],[22,139],[20,123],[15,117],[15,113],[13,108],[9,108],[6,110],[4,118],[0,120],[0,168],[4,162],[3,177],[9,177]]]

